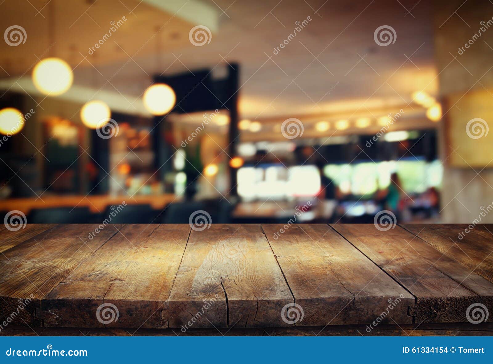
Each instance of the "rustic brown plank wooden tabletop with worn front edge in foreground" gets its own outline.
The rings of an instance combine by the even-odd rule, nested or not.
[[[0,333],[492,334],[493,226],[286,226],[2,226]]]

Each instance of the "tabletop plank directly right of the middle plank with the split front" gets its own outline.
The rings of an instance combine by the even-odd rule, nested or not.
[[[412,323],[415,298],[328,225],[283,226],[262,228],[304,312],[296,325]]]

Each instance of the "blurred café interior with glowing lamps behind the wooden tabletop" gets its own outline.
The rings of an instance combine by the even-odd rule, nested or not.
[[[2,216],[469,223],[493,201],[492,16],[480,0],[4,0]]]

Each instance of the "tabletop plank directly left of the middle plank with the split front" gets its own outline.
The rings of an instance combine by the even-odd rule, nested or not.
[[[38,315],[53,327],[167,328],[161,311],[189,233],[188,224],[125,226],[42,299]]]

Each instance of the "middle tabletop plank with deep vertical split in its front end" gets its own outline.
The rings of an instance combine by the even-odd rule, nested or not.
[[[287,326],[293,303],[260,225],[192,230],[163,317],[170,328]]]

